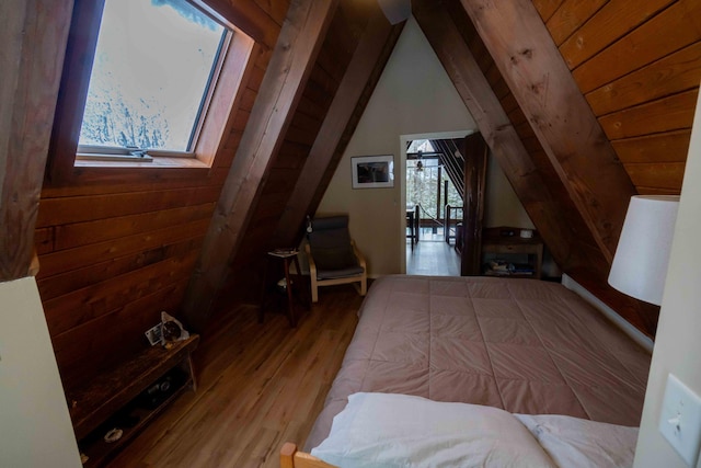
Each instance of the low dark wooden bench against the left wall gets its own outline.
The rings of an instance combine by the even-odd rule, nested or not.
[[[198,341],[194,334],[169,349],[151,346],[79,391],[68,393],[78,446],[89,457],[84,466],[100,466],[181,393],[196,389],[191,353]],[[161,386],[169,388],[163,391]],[[159,395],[151,404],[143,404],[152,388]],[[133,423],[115,423],[125,418]],[[122,430],[122,436],[108,443],[104,436],[111,429]]]

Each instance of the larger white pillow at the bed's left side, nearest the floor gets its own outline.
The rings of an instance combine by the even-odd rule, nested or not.
[[[311,454],[352,467],[554,467],[513,414],[406,395],[354,393]]]

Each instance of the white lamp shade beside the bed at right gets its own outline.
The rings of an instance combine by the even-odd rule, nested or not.
[[[609,284],[636,299],[662,305],[679,197],[631,197]]]

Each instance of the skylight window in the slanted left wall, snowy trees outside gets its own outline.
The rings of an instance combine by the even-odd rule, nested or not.
[[[192,153],[232,32],[186,0],[105,0],[79,153]]]

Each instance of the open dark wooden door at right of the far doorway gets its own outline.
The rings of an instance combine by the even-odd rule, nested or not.
[[[462,209],[461,276],[480,274],[482,217],[486,179],[487,146],[479,133],[464,138],[460,149],[464,156],[464,203]]]

